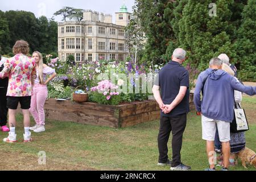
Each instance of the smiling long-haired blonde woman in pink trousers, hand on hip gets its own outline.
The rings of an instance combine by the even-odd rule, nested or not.
[[[34,77],[34,85],[32,88],[30,113],[34,117],[36,125],[30,127],[30,130],[35,133],[40,133],[46,131],[44,127],[44,103],[48,96],[47,84],[57,74],[55,73],[55,69],[49,68],[46,64],[43,64],[43,57],[40,52],[36,51],[32,56],[36,63],[36,76]],[[50,75],[48,79],[47,75]]]

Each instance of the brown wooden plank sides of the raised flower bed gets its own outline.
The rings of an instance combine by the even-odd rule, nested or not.
[[[194,109],[193,93],[189,100],[191,109]],[[49,99],[44,109],[47,119],[114,128],[134,126],[160,118],[159,105],[155,100],[110,106]]]

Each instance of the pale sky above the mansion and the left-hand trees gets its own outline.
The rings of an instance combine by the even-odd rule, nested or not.
[[[77,9],[93,10],[99,13],[112,14],[113,22],[115,13],[125,3],[127,9],[132,13],[132,7],[135,0],[7,0],[0,3],[0,10],[23,10],[30,11],[38,18],[42,15],[52,18],[53,14],[64,6],[74,7]],[[61,21],[61,16],[56,16],[57,22]]]

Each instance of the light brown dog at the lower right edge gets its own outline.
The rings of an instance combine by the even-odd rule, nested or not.
[[[242,166],[246,169],[246,163],[249,163],[256,168],[256,153],[250,148],[245,147],[245,149],[236,154],[236,156],[241,159]]]

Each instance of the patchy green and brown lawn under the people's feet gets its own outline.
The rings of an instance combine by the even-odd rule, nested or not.
[[[244,97],[243,107],[250,120],[246,132],[247,147],[256,149],[256,97]],[[254,111],[247,112],[248,109]],[[248,117],[248,116],[247,116]],[[124,129],[88,126],[72,122],[48,121],[46,132],[32,133],[34,142],[22,143],[22,116],[17,116],[18,143],[0,142],[0,170],[147,170],[168,171],[158,167],[157,137],[159,121],[143,123]],[[32,121],[34,122],[34,121]],[[5,138],[6,133],[0,133]],[[170,138],[171,139],[171,138]],[[171,142],[168,144],[171,156]],[[45,151],[46,165],[38,164],[38,152]],[[195,111],[188,114],[181,158],[193,170],[208,166],[205,142],[201,139],[201,119]],[[241,162],[232,170],[245,170]],[[249,167],[250,171],[255,168]]]

